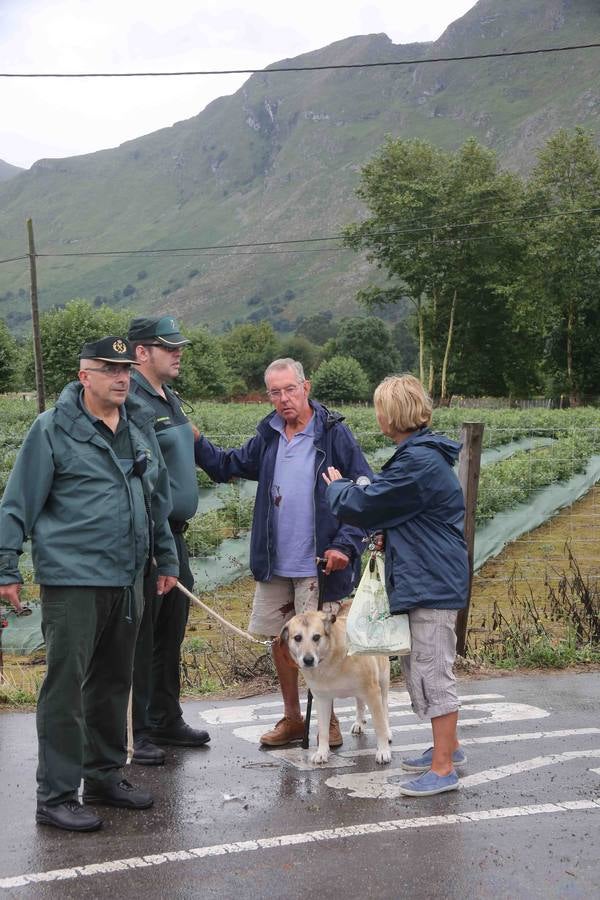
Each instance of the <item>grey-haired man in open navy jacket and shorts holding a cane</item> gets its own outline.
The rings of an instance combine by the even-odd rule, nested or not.
[[[265,372],[274,410],[259,422],[256,435],[237,450],[222,450],[200,436],[196,462],[214,481],[258,481],[250,542],[250,568],[256,579],[249,630],[278,635],[297,613],[316,609],[316,558],[325,560],[325,608],[347,597],[360,572],[364,532],[343,525],[329,509],[321,472],[339,460],[347,478],[372,473],[343,416],[309,400],[310,382],[302,364],[276,359]],[[337,608],[337,607],[336,607]],[[267,747],[281,747],[303,737],[298,669],[286,648],[275,640],[273,661],[283,696],[284,717],[261,737]],[[330,747],[342,735],[332,715]]]

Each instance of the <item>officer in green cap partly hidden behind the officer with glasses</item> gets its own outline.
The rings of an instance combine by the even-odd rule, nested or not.
[[[194,433],[179,397],[167,384],[179,375],[183,348],[190,342],[170,316],[133,319],[128,338],[138,362],[131,390],[155,415],[156,437],[169,472],[173,500],[169,525],[177,547],[179,580],[191,590],[194,579],[184,534],[198,506]],[[157,594],[152,573],[144,594],[144,620],[134,663],[133,762],[160,765],[165,751],[157,745],[200,747],[210,736],[184,721],[179,702],[179,657],[189,602],[177,589],[164,596]]]

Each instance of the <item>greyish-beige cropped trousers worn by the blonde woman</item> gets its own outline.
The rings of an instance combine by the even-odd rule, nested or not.
[[[413,711],[420,719],[434,719],[456,712],[455,609],[409,610],[411,652],[400,657]]]

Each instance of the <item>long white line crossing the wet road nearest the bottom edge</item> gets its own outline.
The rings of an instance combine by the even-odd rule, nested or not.
[[[442,816],[420,816],[410,819],[392,819],[384,822],[364,822],[359,825],[348,825],[341,828],[326,828],[319,831],[305,831],[298,834],[282,834],[270,838],[234,841],[229,844],[212,844],[208,847],[195,847],[190,850],[175,850],[165,853],[153,853],[149,856],[136,856],[128,859],[114,859],[106,862],[91,863],[87,866],[53,869],[47,872],[30,872],[0,878],[0,888],[24,887],[29,884],[41,884],[53,881],[68,881],[94,875],[108,875],[114,872],[126,872],[132,869],[161,866],[165,863],[205,859],[211,856],[226,856],[233,853],[247,853],[252,850],[272,850],[280,847],[292,847],[298,844],[312,844],[320,841],[338,841],[347,838],[370,837],[383,832],[404,831],[412,828],[432,828],[444,825],[469,825],[474,822],[493,822],[495,820],[518,818],[523,816],[557,815],[564,812],[585,812],[600,810],[600,800],[565,800],[560,803],[540,803],[530,806],[496,807],[486,810],[474,810],[460,814]],[[569,820],[572,822],[572,820]]]

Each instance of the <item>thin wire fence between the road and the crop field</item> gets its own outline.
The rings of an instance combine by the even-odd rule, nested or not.
[[[444,430],[458,437],[457,427]],[[374,430],[355,429],[354,434],[374,471],[380,469],[394,447],[381,446]],[[224,447],[238,446],[246,437],[229,429],[211,433]],[[186,533],[196,593],[225,618],[247,628],[254,592],[249,537],[256,483],[212,485],[204,476],[200,480],[198,513]],[[471,653],[500,640],[498,623],[503,617],[515,620],[523,614],[521,628],[534,625],[536,617],[547,619],[556,630],[549,597],[564,584],[573,560],[577,590],[581,593],[583,586],[598,606],[598,482],[600,427],[527,427],[525,420],[518,427],[486,425],[468,632]],[[26,558],[25,571],[29,567]],[[35,602],[35,587],[28,594]],[[563,632],[565,627],[563,622]],[[224,635],[206,614],[193,612],[182,653],[185,689],[214,690],[272,674],[268,654]]]

